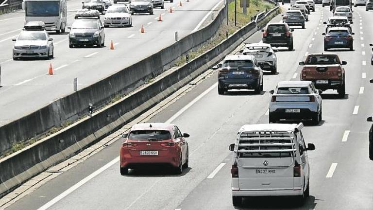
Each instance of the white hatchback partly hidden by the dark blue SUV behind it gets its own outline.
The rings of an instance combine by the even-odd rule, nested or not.
[[[242,54],[254,55],[262,70],[271,71],[272,74],[277,72],[277,50],[273,50],[270,44],[253,43],[246,44]]]

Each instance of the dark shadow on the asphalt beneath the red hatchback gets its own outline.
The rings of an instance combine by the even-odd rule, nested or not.
[[[142,169],[130,169],[128,175],[122,176],[136,176],[136,177],[165,177],[165,176],[183,176],[191,171],[188,167],[183,169],[183,172],[178,175],[174,173],[174,169],[168,166],[149,166]]]

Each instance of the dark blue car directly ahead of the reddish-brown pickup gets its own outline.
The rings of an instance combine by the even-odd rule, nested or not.
[[[354,50],[354,35],[350,32],[349,28],[346,27],[335,27],[329,28],[327,33],[324,35],[324,51],[329,48],[349,48],[350,51]]]

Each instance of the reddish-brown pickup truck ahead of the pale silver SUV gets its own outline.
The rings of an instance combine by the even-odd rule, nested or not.
[[[325,91],[336,89],[340,98],[346,93],[346,73],[337,54],[318,53],[309,54],[305,61],[299,62],[303,66],[301,80],[312,81],[317,89]]]

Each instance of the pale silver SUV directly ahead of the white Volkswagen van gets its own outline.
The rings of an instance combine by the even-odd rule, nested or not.
[[[270,123],[311,120],[316,125],[322,120],[322,91],[317,90],[311,81],[279,82],[270,93]]]

